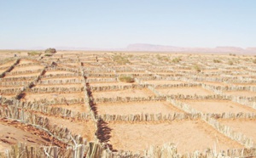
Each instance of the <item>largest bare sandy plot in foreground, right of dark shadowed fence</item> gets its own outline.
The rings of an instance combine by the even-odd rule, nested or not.
[[[241,145],[226,138],[203,121],[172,121],[160,124],[109,123],[113,129],[110,143],[116,150],[144,150],[150,145],[173,142],[177,152],[207,150],[216,144],[217,150],[241,148]]]

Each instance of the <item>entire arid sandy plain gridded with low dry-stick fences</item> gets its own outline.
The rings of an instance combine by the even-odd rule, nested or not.
[[[253,55],[26,52],[0,52],[2,155],[255,154]]]

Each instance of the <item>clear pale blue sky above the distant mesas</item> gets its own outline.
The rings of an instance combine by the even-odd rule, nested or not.
[[[256,47],[255,0],[0,0],[0,48]]]

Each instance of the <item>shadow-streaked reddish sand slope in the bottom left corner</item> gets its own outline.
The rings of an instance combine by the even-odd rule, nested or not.
[[[23,131],[17,127],[9,126],[8,123],[0,122],[0,152],[10,149],[12,144],[26,143],[32,146],[41,146],[49,144],[44,138]]]

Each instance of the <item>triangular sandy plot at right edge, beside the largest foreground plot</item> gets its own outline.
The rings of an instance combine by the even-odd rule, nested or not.
[[[231,127],[237,133],[243,133],[247,138],[253,138],[256,142],[256,120],[236,119],[236,120],[219,120],[224,125]]]

